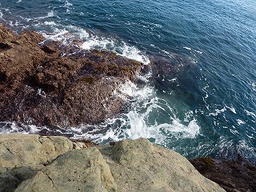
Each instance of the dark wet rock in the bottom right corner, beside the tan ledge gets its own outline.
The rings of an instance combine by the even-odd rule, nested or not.
[[[226,191],[256,191],[256,166],[241,156],[236,161],[195,158],[190,162],[202,175],[217,182]]]

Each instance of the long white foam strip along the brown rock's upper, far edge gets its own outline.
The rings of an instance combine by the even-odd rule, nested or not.
[[[54,12],[51,11],[48,13],[46,17],[54,16]],[[40,17],[40,18],[46,18]],[[39,19],[39,18],[38,18]],[[144,64],[149,64],[150,59],[146,54],[143,54],[141,50],[138,50],[135,46],[129,46],[126,42],[122,40],[118,40],[116,38],[104,38],[98,37],[95,34],[88,33],[85,29],[82,29],[78,26],[62,26],[57,24],[56,22],[42,22],[38,24],[39,26],[50,26],[54,32],[52,34],[46,34],[42,31],[42,34],[46,38],[50,38],[52,40],[63,42],[67,44],[68,42],[72,42],[70,40],[74,38],[80,38],[83,43],[80,46],[84,50],[109,50],[114,52],[115,54],[121,55],[126,58],[134,59],[138,62],[142,62]]]

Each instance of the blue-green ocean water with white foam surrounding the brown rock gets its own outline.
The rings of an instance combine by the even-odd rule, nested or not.
[[[130,103],[122,114],[60,133],[99,143],[149,138],[187,158],[241,154],[256,162],[254,0],[0,0],[0,22],[155,62],[140,85],[119,87]],[[0,125],[2,133],[43,129]]]

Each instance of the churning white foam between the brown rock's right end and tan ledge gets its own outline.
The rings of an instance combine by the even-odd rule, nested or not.
[[[120,93],[136,98],[133,100],[130,110],[120,114],[118,118],[108,119],[98,127],[94,126],[94,129],[96,128],[94,132],[80,135],[78,133],[75,138],[90,138],[95,142],[118,141],[124,138],[154,138],[156,143],[164,144],[170,137],[194,138],[199,134],[200,127],[193,118],[193,111],[188,111],[184,120],[173,115],[169,118],[165,117],[165,122],[150,122],[150,117],[155,115],[156,111],[166,114],[169,110],[173,110],[170,106],[166,108],[168,104],[155,96],[154,87],[146,85],[138,88],[134,84],[126,82]],[[82,130],[86,130],[86,127],[90,127],[90,125],[84,126]],[[108,128],[105,133],[97,134],[98,130],[106,127]]]

